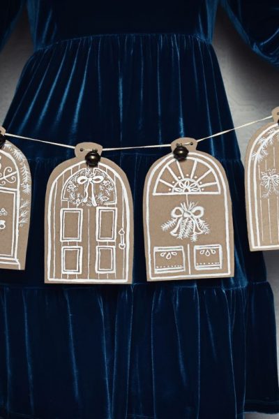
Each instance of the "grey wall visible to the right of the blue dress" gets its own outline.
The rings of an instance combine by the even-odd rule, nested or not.
[[[234,126],[271,115],[271,110],[279,105],[278,70],[243,43],[224,13],[218,13],[213,45],[223,75]],[[242,160],[250,137],[267,122],[259,122],[236,131]],[[276,304],[279,360],[279,251],[266,251],[264,258]],[[267,417],[278,419],[279,415],[268,416],[262,413],[246,415],[246,419]]]

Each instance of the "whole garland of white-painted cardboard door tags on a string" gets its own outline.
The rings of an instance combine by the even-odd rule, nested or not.
[[[273,123],[252,136],[246,153],[246,212],[252,251],[279,248],[279,107],[272,117]],[[0,268],[22,270],[31,175],[26,157],[6,140],[8,135],[24,138],[0,127]],[[148,281],[234,275],[227,177],[216,159],[196,150],[197,142],[206,138],[178,138],[171,145],[140,147],[172,148],[172,153],[151,166],[144,186]],[[133,201],[125,173],[101,157],[98,144],[49,143],[75,148],[76,157],[57,166],[47,184],[45,282],[130,284]]]

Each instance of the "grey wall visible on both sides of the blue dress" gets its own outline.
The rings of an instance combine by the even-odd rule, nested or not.
[[[271,110],[279,105],[278,71],[244,45],[223,12],[218,13],[213,45],[220,62],[235,126],[271,115]],[[31,53],[32,43],[27,13],[24,13],[6,47],[0,54],[0,124],[3,123],[12,101],[22,67]],[[258,123],[237,131],[242,156],[245,154],[250,136],[260,126],[262,124]],[[265,252],[268,279],[273,288],[277,324],[279,326],[278,256],[278,251]],[[246,415],[246,419],[264,419],[267,417],[270,416],[256,413]],[[279,415],[271,417],[279,419]]]

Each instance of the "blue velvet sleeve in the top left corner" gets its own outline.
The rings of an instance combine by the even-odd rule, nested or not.
[[[0,52],[15,27],[26,0],[0,1]]]

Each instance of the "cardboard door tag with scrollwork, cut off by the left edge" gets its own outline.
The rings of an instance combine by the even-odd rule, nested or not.
[[[0,127],[1,135],[5,129]],[[6,140],[0,147],[0,268],[24,270],[31,207],[29,164]]]

